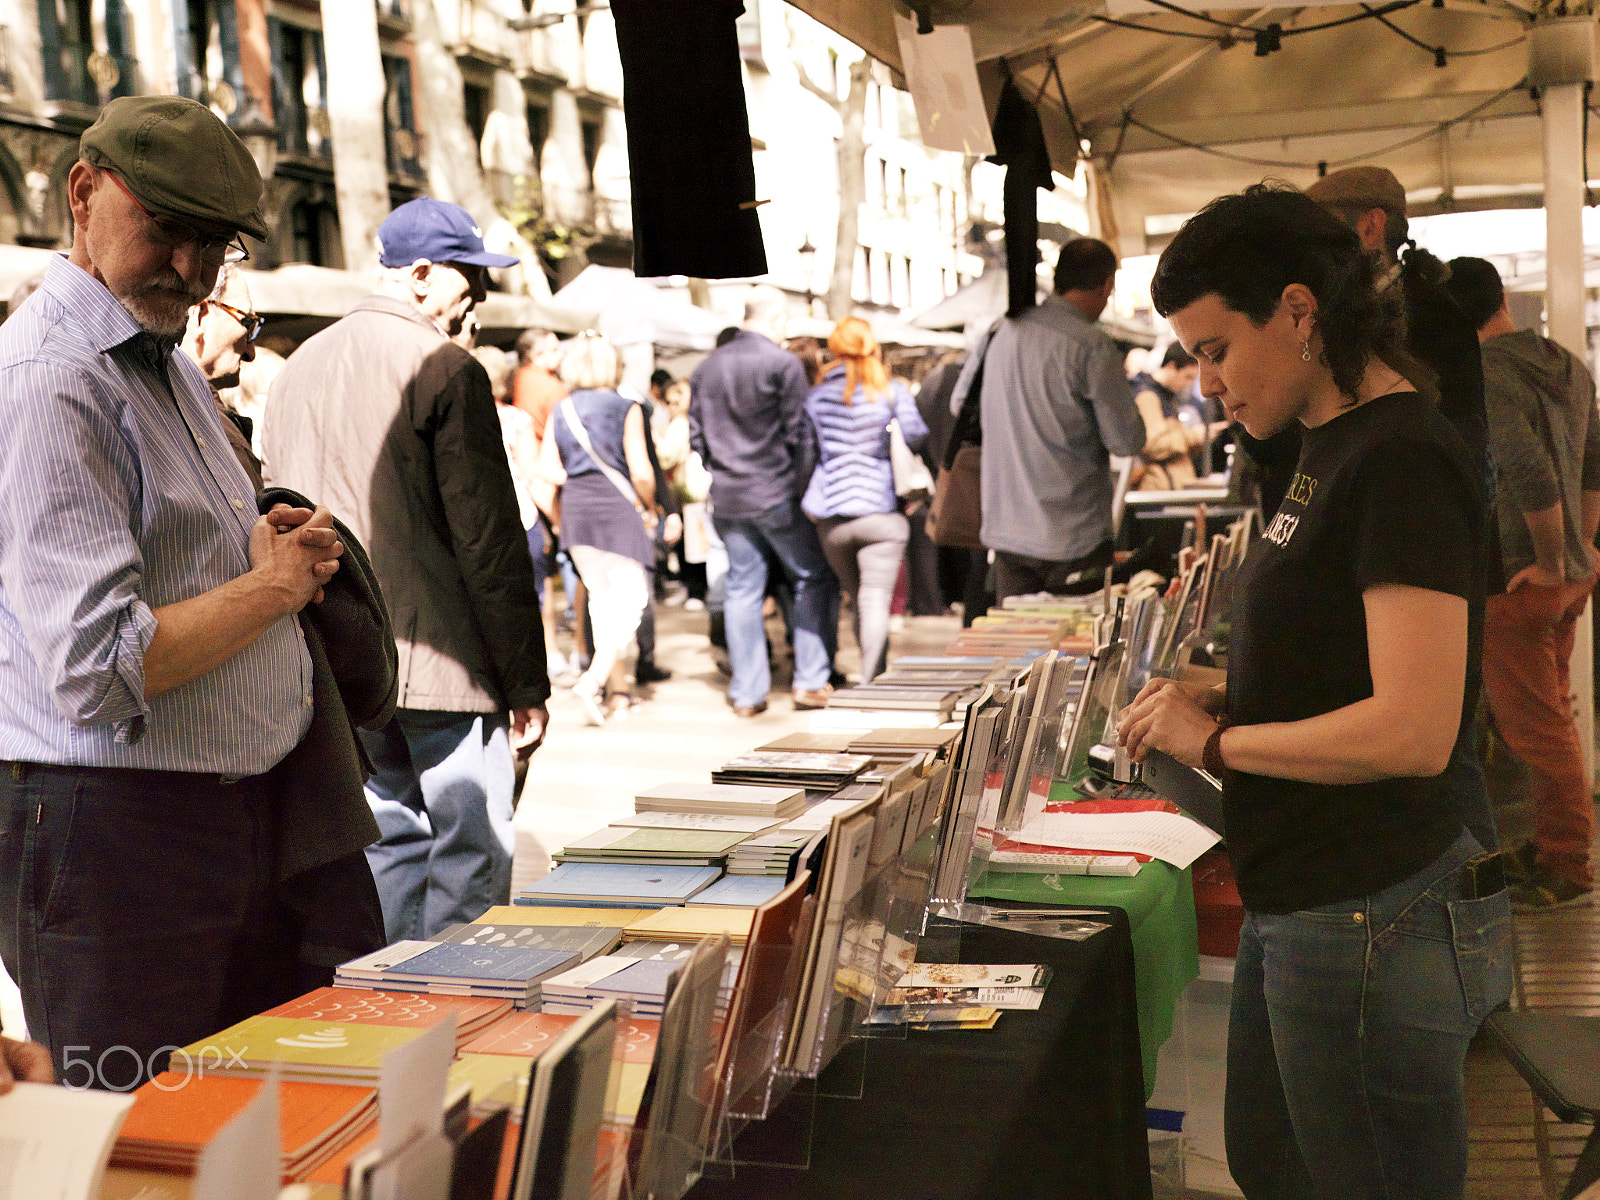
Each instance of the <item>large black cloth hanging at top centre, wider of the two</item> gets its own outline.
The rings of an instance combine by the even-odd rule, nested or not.
[[[611,0],[634,189],[634,272],[766,272],[744,107],[741,0]]]

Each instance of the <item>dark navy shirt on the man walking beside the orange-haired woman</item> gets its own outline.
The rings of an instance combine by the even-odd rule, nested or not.
[[[690,445],[710,470],[717,515],[758,517],[798,499],[816,464],[800,360],[739,330],[694,368],[690,387]]]

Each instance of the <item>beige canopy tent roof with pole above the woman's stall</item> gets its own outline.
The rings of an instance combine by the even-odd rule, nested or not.
[[[1090,171],[1123,254],[1262,178],[1379,163],[1413,213],[1541,203],[1549,334],[1589,357],[1582,210],[1595,18],[1565,0],[790,0],[901,70],[894,18],[966,26],[989,114],[1006,75],[1058,171]],[[1592,774],[1589,622],[1573,683]]]

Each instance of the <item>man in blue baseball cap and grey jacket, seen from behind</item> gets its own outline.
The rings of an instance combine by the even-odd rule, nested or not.
[[[538,747],[550,683],[490,381],[450,341],[485,267],[517,259],[427,197],[378,237],[378,293],[288,360],[264,450],[270,482],[320,498],[366,544],[394,619],[398,710],[362,741],[382,830],[366,858],[398,941],[509,899],[512,744]]]

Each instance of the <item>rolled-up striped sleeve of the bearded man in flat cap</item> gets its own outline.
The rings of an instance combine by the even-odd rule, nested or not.
[[[50,363],[0,371],[0,395],[6,640],[21,642],[69,722],[115,723],[117,741],[136,742],[157,619],[139,595],[142,490],[128,434],[93,379]]]

